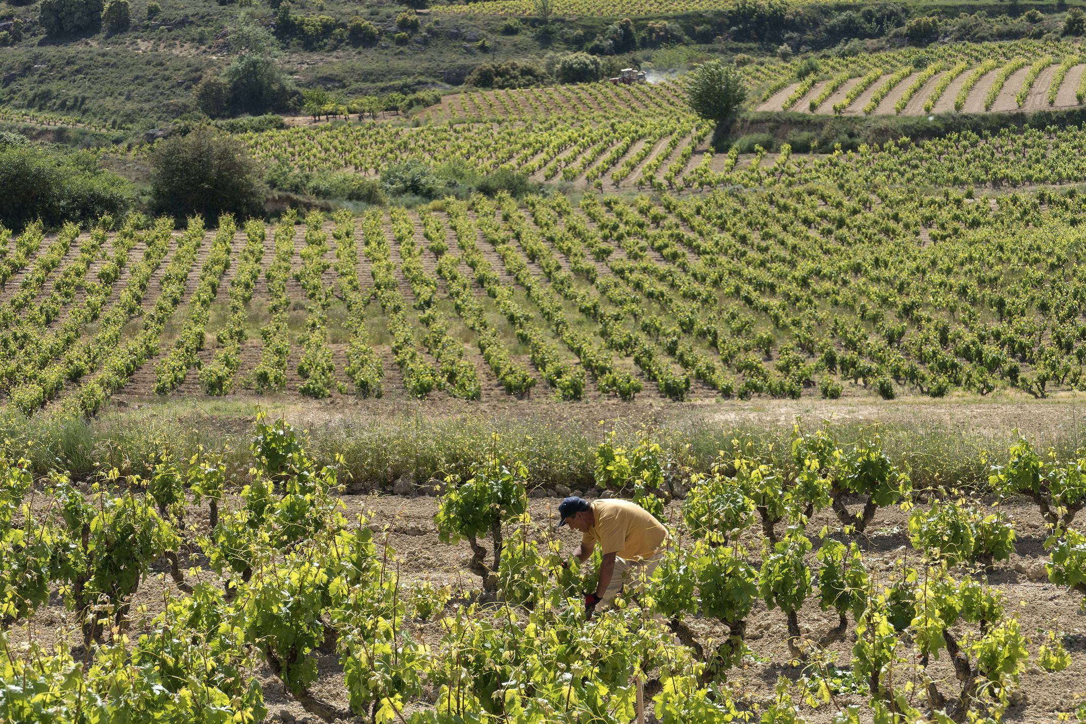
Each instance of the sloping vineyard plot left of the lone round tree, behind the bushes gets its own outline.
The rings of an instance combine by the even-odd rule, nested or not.
[[[598,190],[673,179],[711,130],[686,110],[678,84],[586,84],[451,96],[421,126],[342,124],[250,134],[262,162],[319,173],[375,175],[399,157],[460,161],[481,173],[513,168],[540,181]]]

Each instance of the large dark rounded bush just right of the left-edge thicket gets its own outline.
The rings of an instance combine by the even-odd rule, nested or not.
[[[244,147],[209,127],[162,141],[151,155],[155,205],[175,216],[252,215],[264,190]]]

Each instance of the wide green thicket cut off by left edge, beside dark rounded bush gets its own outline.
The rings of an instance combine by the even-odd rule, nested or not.
[[[11,134],[0,139],[0,224],[78,224],[104,214],[117,216],[131,206],[131,185],[101,169],[91,153],[52,151],[21,138]]]

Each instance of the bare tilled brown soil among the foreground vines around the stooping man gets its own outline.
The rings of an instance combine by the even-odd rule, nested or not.
[[[538,491],[534,495],[554,493],[554,491]],[[556,519],[558,497],[533,497],[530,511],[533,520],[550,524]],[[38,505],[46,501],[39,498]],[[444,545],[438,539],[433,525],[433,515],[437,501],[432,497],[391,496],[391,495],[346,495],[343,497],[345,515],[354,519],[363,515],[367,524],[374,529],[378,541],[387,541],[395,550],[399,561],[401,580],[405,586],[420,581],[429,581],[439,586],[452,586],[456,589],[473,589],[478,580],[467,570],[470,550],[467,544],[456,546]],[[681,518],[679,503],[668,507],[671,521]],[[920,507],[923,507],[921,505]],[[1024,499],[1012,500],[1002,506],[1002,510],[1014,521],[1018,535],[1016,552],[1008,562],[997,563],[995,571],[985,576],[987,583],[997,588],[1003,596],[1007,615],[1013,615],[1021,622],[1023,634],[1031,638],[1031,659],[1026,672],[1022,676],[1019,694],[1014,704],[1007,714],[1011,722],[1052,722],[1060,712],[1073,710],[1077,703],[1076,696],[1086,691],[1083,675],[1086,673],[1086,615],[1081,607],[1082,596],[1065,588],[1048,583],[1045,575],[1044,561],[1046,556],[1043,542],[1046,531],[1041,519],[1033,505]],[[200,529],[206,528],[206,512],[203,509],[190,511],[190,522]],[[921,567],[919,555],[909,545],[908,513],[897,507],[884,508],[879,511],[868,528],[864,536],[859,538],[864,562],[872,579],[876,583],[892,580],[904,563]],[[818,544],[818,533],[823,525],[831,530],[836,519],[831,511],[816,513],[809,522],[807,532]],[[569,552],[578,543],[578,534],[568,529],[559,530],[554,535],[560,541],[563,550]],[[755,525],[745,534],[744,545],[749,551],[750,562],[759,564],[761,536]],[[809,554],[808,561],[812,575],[817,575],[818,563],[815,551]],[[182,559],[186,566],[200,567],[201,561],[192,558]],[[163,575],[152,576],[144,582],[132,600],[134,625],[129,632],[135,635],[141,626],[146,626],[147,618],[162,610],[163,596],[166,590],[174,595],[179,592],[167,575],[164,566],[157,566],[156,571]],[[963,574],[959,571],[958,573]],[[203,580],[215,580],[209,570],[198,568],[198,575]],[[445,613],[452,613],[449,607]],[[750,648],[744,662],[729,672],[728,681],[736,697],[743,697],[748,702],[762,706],[772,700],[773,687],[780,676],[784,676],[798,685],[803,677],[813,672],[801,665],[788,664],[786,646],[787,631],[785,617],[780,610],[769,611],[762,601],[758,601],[747,619],[746,644]],[[817,596],[807,600],[799,611],[800,627],[805,635],[818,639],[836,623],[836,615],[819,609]],[[442,636],[442,624],[438,622],[411,622],[412,635],[420,642],[437,647]],[[692,628],[703,644],[710,639],[721,640],[727,635],[725,628],[716,621],[702,618],[691,620]],[[1037,646],[1045,640],[1045,634],[1055,631],[1070,642],[1068,650],[1072,657],[1072,665],[1057,674],[1044,672],[1037,664]],[[964,633],[957,627],[956,633]],[[54,595],[50,606],[38,612],[28,624],[15,626],[10,632],[12,645],[17,647],[27,638],[41,644],[50,644],[60,637],[66,637],[73,645],[78,638],[78,626],[74,617],[64,610],[59,596]],[[850,648],[855,642],[855,621],[849,617],[849,630],[845,637],[832,645],[831,651],[838,664],[847,668],[850,663]],[[78,652],[78,651],[77,651]],[[319,658],[320,676],[313,687],[314,691],[331,699],[341,707],[346,707],[346,693],[342,671],[334,655]],[[947,661],[946,652],[938,661],[932,663],[929,673],[940,677],[940,689],[944,694],[957,691],[954,671]],[[264,695],[269,709],[268,721],[272,722],[312,722],[319,720],[305,712],[285,690],[279,681],[266,665],[261,665],[255,674],[264,685]],[[901,676],[914,678],[912,672],[902,671]],[[898,679],[899,683],[902,679]],[[919,687],[918,687],[919,688]],[[797,696],[797,699],[800,698]],[[804,715],[812,724],[828,723],[838,708],[848,704],[866,703],[866,698],[858,695],[837,694],[830,704],[817,710],[805,709]],[[921,701],[917,700],[919,706]],[[426,701],[416,706],[427,706]]]

